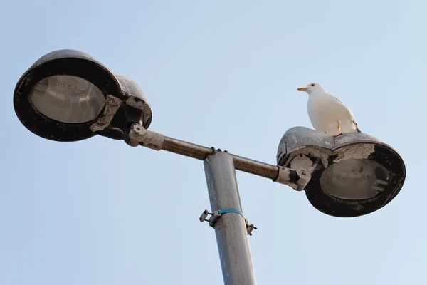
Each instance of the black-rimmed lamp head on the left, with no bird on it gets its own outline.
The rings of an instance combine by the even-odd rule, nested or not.
[[[152,111],[137,84],[113,74],[81,51],[53,51],[21,76],[14,92],[21,123],[48,140],[70,142],[93,135],[125,139],[125,128],[148,128]]]

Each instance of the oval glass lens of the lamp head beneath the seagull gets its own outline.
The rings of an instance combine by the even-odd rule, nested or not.
[[[330,195],[352,200],[375,197],[388,184],[388,171],[372,160],[342,160],[327,167],[320,178],[320,185]]]

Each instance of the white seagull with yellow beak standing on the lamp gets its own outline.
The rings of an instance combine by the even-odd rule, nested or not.
[[[308,93],[307,110],[315,130],[337,137],[343,133],[362,133],[352,111],[320,84],[310,83],[298,91]]]

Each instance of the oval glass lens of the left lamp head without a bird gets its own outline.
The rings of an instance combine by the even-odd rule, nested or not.
[[[33,106],[46,117],[63,123],[85,123],[97,118],[105,96],[89,81],[76,76],[51,76],[31,90]]]

